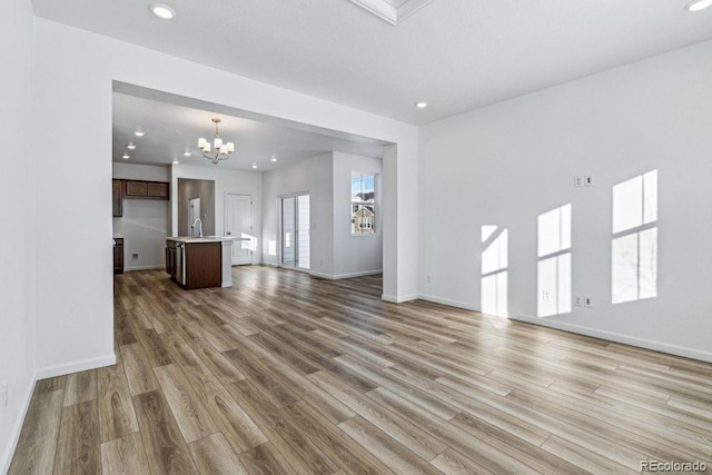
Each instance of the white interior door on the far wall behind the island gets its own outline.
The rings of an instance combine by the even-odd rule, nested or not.
[[[253,234],[253,197],[228,192],[225,198],[225,235],[248,240],[233,244],[233,265],[253,264],[257,239]]]

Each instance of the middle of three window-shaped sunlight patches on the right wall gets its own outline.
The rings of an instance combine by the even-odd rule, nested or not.
[[[571,311],[571,205],[538,216],[536,315]]]

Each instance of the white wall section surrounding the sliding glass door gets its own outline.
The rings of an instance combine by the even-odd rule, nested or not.
[[[279,212],[277,198],[296,192],[309,192],[312,271],[326,276],[334,274],[334,190],[332,154],[301,160],[289,167],[263,174],[263,261],[279,264]],[[277,255],[269,254],[275,241]]]

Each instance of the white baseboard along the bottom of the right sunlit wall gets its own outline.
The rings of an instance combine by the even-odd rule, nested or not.
[[[435,304],[449,305],[451,307],[464,308],[466,310],[482,311],[477,305],[467,304],[447,298],[435,297],[432,295],[421,295],[421,299],[433,301]],[[384,299],[385,300],[385,299]],[[517,321],[524,321],[532,325],[541,325],[543,327],[554,328],[557,330],[585,335],[594,338],[606,339],[609,342],[621,343],[623,345],[636,346],[639,348],[652,349],[653,352],[668,353],[670,355],[682,356],[684,358],[699,359],[701,362],[712,363],[712,353],[703,352],[684,346],[671,345],[668,343],[655,342],[645,338],[637,338],[614,331],[605,331],[596,328],[583,327],[566,321],[552,320],[547,318],[533,317],[531,315],[510,314],[507,318]]]

